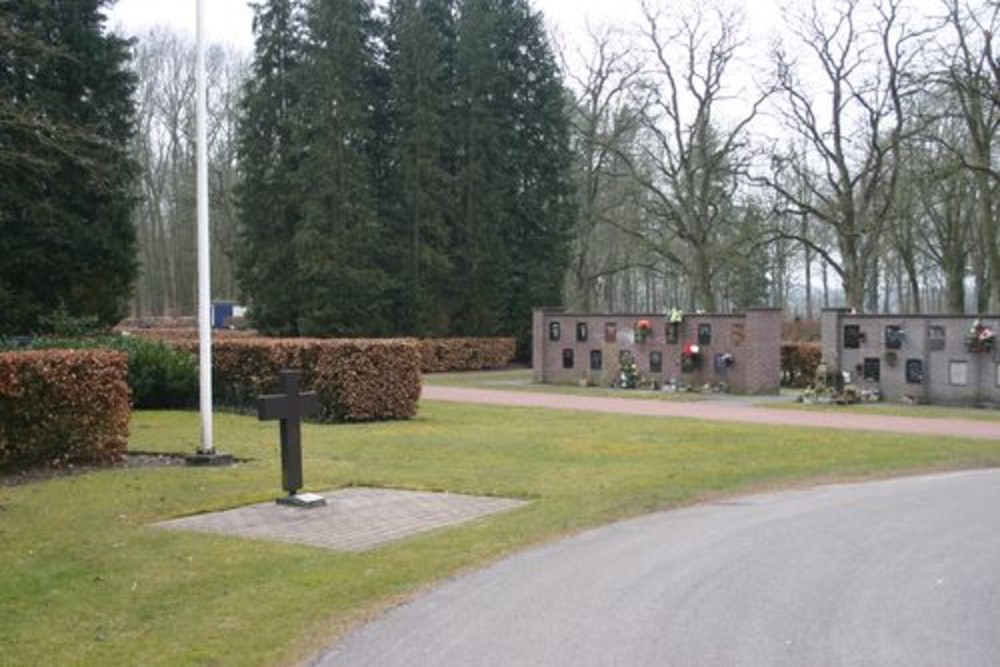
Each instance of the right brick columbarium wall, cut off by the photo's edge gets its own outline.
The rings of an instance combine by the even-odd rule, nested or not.
[[[823,311],[823,363],[890,401],[1000,407],[1000,350],[970,351],[979,320],[1000,331],[1000,315],[859,315]]]

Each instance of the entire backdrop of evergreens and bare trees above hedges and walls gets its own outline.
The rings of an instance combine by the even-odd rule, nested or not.
[[[0,6],[5,331],[194,310],[194,47],[106,4]],[[522,340],[559,303],[1000,310],[995,3],[814,3],[752,68],[725,3],[639,4],[558,63],[526,0],[258,3],[209,57],[216,298]]]

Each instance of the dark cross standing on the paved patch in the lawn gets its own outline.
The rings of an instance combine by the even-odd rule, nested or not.
[[[281,394],[257,398],[257,417],[261,421],[281,420],[281,487],[287,496],[278,498],[282,505],[319,507],[326,499],[315,493],[299,493],[302,488],[302,418],[319,414],[319,396],[314,391],[299,392],[302,371],[281,371]]]

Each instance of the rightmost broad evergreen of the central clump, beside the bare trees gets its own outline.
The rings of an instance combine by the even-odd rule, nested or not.
[[[530,336],[531,307],[561,301],[574,208],[565,91],[525,0],[467,0],[455,230],[457,333]]]

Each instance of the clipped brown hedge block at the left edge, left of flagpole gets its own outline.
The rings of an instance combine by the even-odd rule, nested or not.
[[[130,401],[121,352],[0,354],[0,469],[120,461]]]

